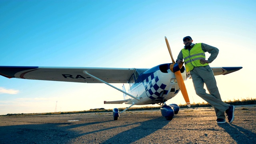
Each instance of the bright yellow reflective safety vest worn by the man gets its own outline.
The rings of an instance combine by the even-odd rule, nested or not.
[[[194,69],[194,67],[208,66],[209,64],[200,64],[201,59],[205,59],[205,53],[202,50],[202,43],[195,44],[190,51],[183,48],[182,55],[184,59],[184,64],[186,67],[186,72]]]

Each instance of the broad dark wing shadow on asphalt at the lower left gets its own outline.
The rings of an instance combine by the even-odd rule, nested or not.
[[[110,122],[90,122],[84,124],[52,123],[52,124],[24,124],[14,126],[0,126],[0,144],[64,144],[73,138],[81,136],[70,131],[72,128]],[[66,125],[66,126],[62,126]]]

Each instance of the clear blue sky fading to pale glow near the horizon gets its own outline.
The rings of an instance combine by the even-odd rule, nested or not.
[[[175,59],[191,36],[219,48],[210,66],[243,67],[216,76],[222,100],[256,98],[255,7],[254,0],[1,0],[0,65],[151,68],[171,62],[164,36]],[[203,102],[192,80],[185,84],[190,102]],[[122,99],[106,84],[0,76],[0,114],[54,112],[56,101],[58,112],[128,107],[103,104]],[[171,103],[185,104],[182,94]]]

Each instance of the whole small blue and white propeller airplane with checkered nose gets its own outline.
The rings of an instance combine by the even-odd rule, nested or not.
[[[166,101],[178,94],[179,91],[188,107],[190,101],[184,81],[190,78],[182,64],[177,64],[165,37],[172,63],[160,64],[153,68],[86,68],[86,67],[38,67],[38,66],[0,66],[0,75],[7,78],[22,78],[30,80],[50,80],[63,82],[105,83],[120,92],[124,100],[104,101],[104,104],[130,104],[122,112],[133,105],[158,104],[161,114],[166,120],[172,120],[178,114],[180,107],[177,104],[167,105]],[[240,70],[242,67],[213,67],[214,75],[225,75]],[[128,83],[126,92],[110,83]],[[128,97],[129,96],[129,97]],[[118,108],[113,109],[114,120],[120,114]]]

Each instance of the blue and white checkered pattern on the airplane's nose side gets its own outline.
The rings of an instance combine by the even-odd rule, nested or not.
[[[165,90],[166,85],[160,83],[156,72],[148,76],[148,78],[143,81],[143,85],[145,86],[147,96],[152,100],[163,99],[164,96],[168,94],[168,90]],[[164,95],[160,97],[162,91],[164,91]]]

